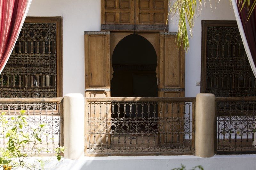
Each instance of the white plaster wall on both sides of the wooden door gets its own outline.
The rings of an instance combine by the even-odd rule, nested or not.
[[[185,61],[186,97],[200,92],[196,81],[201,75],[201,20],[235,20],[228,0],[221,0],[216,9],[212,2],[212,9],[209,3],[202,8],[190,39]],[[100,0],[33,0],[28,16],[63,17],[63,95],[84,94],[84,31],[100,31]],[[177,26],[171,24],[169,31],[177,31]]]

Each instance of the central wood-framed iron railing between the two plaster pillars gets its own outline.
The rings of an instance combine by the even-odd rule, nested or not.
[[[85,98],[87,153],[192,154],[195,98]]]

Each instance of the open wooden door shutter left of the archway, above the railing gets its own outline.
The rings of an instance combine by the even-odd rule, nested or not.
[[[110,97],[109,32],[85,32],[85,97]]]

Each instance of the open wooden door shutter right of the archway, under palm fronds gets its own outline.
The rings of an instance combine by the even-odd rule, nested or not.
[[[159,97],[184,97],[185,95],[185,54],[183,48],[177,46],[176,33],[160,33],[160,63],[159,63]],[[166,110],[167,109],[167,110]],[[184,103],[169,103],[164,108],[164,117],[183,118]],[[170,132],[165,139],[167,143],[181,143],[184,138],[183,132],[180,134],[171,135],[177,129],[182,129],[181,122],[172,122],[172,127],[166,126],[166,131]]]

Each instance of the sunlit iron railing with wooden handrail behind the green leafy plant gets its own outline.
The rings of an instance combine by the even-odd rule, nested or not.
[[[62,100],[63,98],[0,98],[0,112],[5,112],[4,116],[7,117],[8,124],[12,125],[17,121],[20,110],[25,110],[28,125],[20,130],[28,135],[32,135],[33,129],[44,124],[44,132],[40,136],[42,142],[37,145],[37,149],[40,148],[39,153],[53,153],[54,148],[63,146]],[[0,126],[0,145],[5,147],[6,132],[1,128]],[[38,152],[33,145],[33,142],[29,143],[24,152]]]

